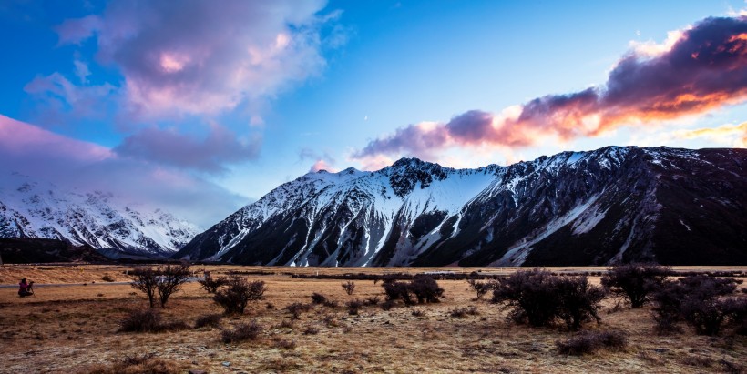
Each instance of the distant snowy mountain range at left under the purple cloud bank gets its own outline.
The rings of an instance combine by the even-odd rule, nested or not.
[[[53,238],[109,257],[169,257],[200,228],[101,191],[63,190],[14,173],[0,186],[0,238]]]

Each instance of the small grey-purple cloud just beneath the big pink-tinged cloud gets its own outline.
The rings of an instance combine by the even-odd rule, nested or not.
[[[126,137],[114,150],[122,156],[158,164],[224,173],[224,165],[253,159],[260,148],[261,137],[241,140],[228,128],[212,124],[204,139],[179,134],[174,128],[147,128]]]

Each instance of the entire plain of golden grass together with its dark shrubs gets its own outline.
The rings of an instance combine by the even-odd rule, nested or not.
[[[157,273],[162,268],[150,270]],[[78,284],[85,281],[87,286],[39,288],[34,298],[14,298],[15,289],[9,289],[10,296],[0,292],[0,339],[6,343],[0,359],[5,370],[572,373],[630,368],[665,372],[745,369],[747,295],[739,279],[723,277],[733,272],[688,270],[692,274],[644,282],[649,284],[646,301],[639,308],[629,308],[632,302],[624,296],[627,293],[620,293],[620,285],[640,284],[640,271],[619,272],[627,276],[616,278],[618,286],[607,281],[608,287],[600,286],[600,281],[614,268],[609,273],[604,269],[507,269],[503,274],[482,273],[463,280],[423,274],[388,279],[382,274],[376,284],[355,281],[353,295],[348,295],[339,279],[301,280],[277,274],[275,268],[236,274],[210,270],[214,279],[226,280],[215,294],[198,282],[184,283],[168,298],[166,308],[148,308],[143,294],[132,292],[128,285],[98,281],[105,274],[113,274],[118,282],[138,277],[125,267],[97,272],[86,268],[85,273],[76,268]],[[314,274],[317,269],[288,271]],[[29,277],[36,280],[37,274]],[[159,291],[153,290],[154,306],[158,306]],[[225,308],[215,300],[219,295],[235,302],[225,303],[230,306]],[[263,301],[257,304],[259,300]],[[603,323],[595,323],[602,318]],[[18,320],[31,328],[17,329]]]

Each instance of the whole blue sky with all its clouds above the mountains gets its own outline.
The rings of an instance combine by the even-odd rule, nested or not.
[[[0,35],[0,176],[203,228],[320,169],[747,146],[742,0],[5,0]]]

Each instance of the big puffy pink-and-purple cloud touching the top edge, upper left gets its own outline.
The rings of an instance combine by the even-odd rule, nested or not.
[[[339,15],[318,15],[324,5],[122,0],[56,31],[61,44],[96,37],[97,60],[124,76],[130,116],[216,115],[322,70],[321,29]]]

